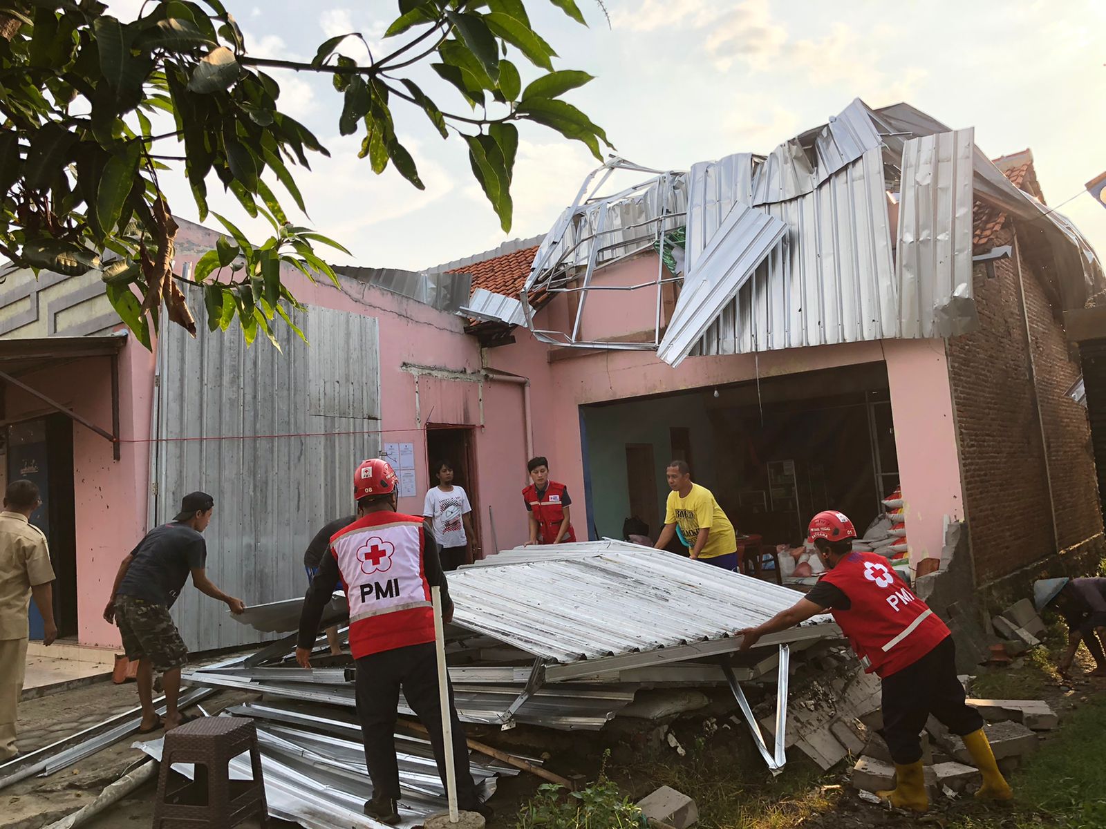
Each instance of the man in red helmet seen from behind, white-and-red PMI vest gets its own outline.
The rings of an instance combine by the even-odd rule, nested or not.
[[[379,458],[357,468],[353,483],[357,520],[331,537],[304,598],[295,649],[295,661],[310,668],[323,608],[341,578],[349,602],[357,718],[373,779],[373,798],[365,802],[365,814],[389,825],[400,820],[395,744],[400,689],[426,726],[442,785],[446,781],[431,586],[441,588],[444,621],[453,616],[434,536],[425,533],[421,516],[396,512],[398,483],[395,471]],[[491,809],[480,802],[469,772],[468,742],[453,706],[452,688],[449,700],[458,806],[490,818]]]

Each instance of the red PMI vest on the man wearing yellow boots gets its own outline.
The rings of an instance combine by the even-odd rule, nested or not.
[[[832,610],[864,670],[890,676],[914,664],[949,636],[949,629],[887,564],[872,553],[849,553],[823,580],[852,607]]]

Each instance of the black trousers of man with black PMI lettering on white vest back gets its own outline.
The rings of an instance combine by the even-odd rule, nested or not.
[[[438,701],[438,663],[434,643],[411,644],[357,660],[357,718],[365,743],[365,763],[373,778],[373,795],[399,799],[399,766],[396,760],[396,707],[399,690],[429,732],[441,785],[446,785],[445,742],[441,737],[441,703]],[[472,809],[478,802],[476,783],[469,773],[469,747],[457,717],[453,689],[449,689],[453,723],[453,769],[457,802]]]

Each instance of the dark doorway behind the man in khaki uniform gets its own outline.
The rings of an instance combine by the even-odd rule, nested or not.
[[[73,495],[73,422],[64,414],[48,414],[8,427],[8,481],[24,478],[39,486],[42,506],[31,523],[46,536],[56,579],[53,585],[58,636],[75,637],[76,521]],[[42,639],[43,622],[31,602],[30,636]]]

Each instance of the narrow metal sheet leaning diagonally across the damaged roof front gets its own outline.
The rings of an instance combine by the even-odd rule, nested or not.
[[[780,219],[734,204],[697,260],[695,281],[680,292],[657,356],[674,368],[679,366],[786,232]]]

